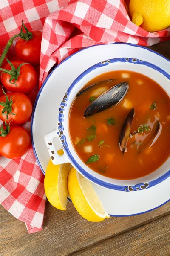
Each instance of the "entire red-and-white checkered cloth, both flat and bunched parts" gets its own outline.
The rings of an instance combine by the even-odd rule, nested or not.
[[[54,64],[83,47],[111,42],[150,46],[170,39],[170,28],[150,33],[133,24],[123,0],[3,0],[1,47],[19,33],[22,19],[29,30],[43,28],[40,86]],[[26,222],[29,233],[42,229],[43,179],[32,148],[20,159],[0,159],[0,203]]]

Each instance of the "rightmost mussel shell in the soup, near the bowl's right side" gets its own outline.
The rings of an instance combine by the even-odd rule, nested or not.
[[[147,141],[143,143],[138,149],[139,150],[138,153],[142,152],[145,148],[150,148],[159,138],[161,131],[162,131],[162,125],[159,121],[156,121],[153,126],[152,132],[150,134],[151,139],[150,137],[148,137]]]

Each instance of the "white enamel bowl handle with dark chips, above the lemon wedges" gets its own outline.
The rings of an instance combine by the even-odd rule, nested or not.
[[[53,131],[48,132],[48,134],[45,135],[44,139],[45,139],[45,143],[46,146],[48,148],[48,152],[50,154],[51,160],[53,162],[53,164],[62,164],[62,163],[68,163],[68,157],[65,155],[65,152],[62,156],[60,156],[59,154],[57,154],[57,151],[61,148],[56,148],[54,146],[54,138],[59,138],[59,135],[57,134],[57,130],[54,129]]]

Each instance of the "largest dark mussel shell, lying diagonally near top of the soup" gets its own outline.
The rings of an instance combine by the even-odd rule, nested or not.
[[[117,84],[100,95],[86,108],[84,116],[92,116],[120,102],[128,90],[127,82]]]

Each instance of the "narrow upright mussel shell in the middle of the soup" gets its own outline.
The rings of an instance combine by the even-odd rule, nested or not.
[[[132,108],[125,119],[125,122],[122,126],[122,130],[119,135],[120,149],[123,153],[125,152],[127,141],[130,135],[134,113],[135,113],[135,109]]]

